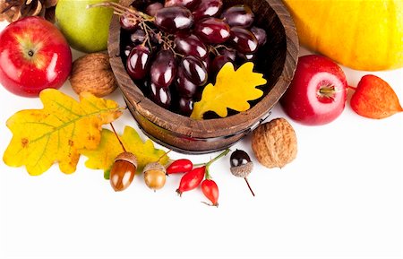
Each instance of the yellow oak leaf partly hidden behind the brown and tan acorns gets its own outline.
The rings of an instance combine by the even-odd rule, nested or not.
[[[162,165],[167,164],[168,157],[165,151],[156,149],[152,141],[142,142],[140,135],[130,126],[124,127],[124,134],[119,139],[126,151],[132,152],[137,158],[137,173],[150,162],[159,160]],[[123,147],[116,135],[110,130],[103,129],[101,142],[96,150],[83,150],[81,154],[88,157],[85,166],[91,169],[104,169],[105,178],[109,178],[109,172],[116,159],[122,153]]]

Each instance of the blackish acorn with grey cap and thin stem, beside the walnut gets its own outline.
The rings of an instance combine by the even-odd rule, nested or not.
[[[247,176],[249,176],[253,170],[253,161],[249,157],[248,153],[242,150],[232,152],[229,158],[229,163],[231,165],[231,173],[236,177],[243,177],[246,185],[254,196],[253,190],[247,179]]]

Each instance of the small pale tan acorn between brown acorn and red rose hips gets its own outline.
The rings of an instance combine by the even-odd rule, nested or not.
[[[159,162],[147,164],[142,172],[144,173],[146,186],[154,190],[154,192],[165,186],[167,170]]]

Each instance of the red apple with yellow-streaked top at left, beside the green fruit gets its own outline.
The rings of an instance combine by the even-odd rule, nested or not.
[[[60,88],[72,68],[72,51],[60,30],[27,17],[0,32],[0,83],[15,94],[36,97]]]

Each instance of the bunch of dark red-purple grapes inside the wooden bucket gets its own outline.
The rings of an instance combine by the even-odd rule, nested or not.
[[[222,10],[222,0],[142,2],[141,9],[112,4],[127,73],[149,99],[184,116],[223,65],[254,61],[266,43],[266,31],[253,26],[254,13],[244,4]]]

